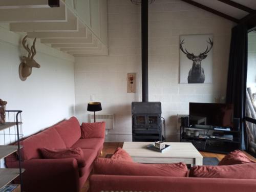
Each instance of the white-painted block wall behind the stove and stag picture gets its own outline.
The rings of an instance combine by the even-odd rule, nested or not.
[[[231,28],[234,23],[179,0],[157,0],[149,7],[149,95],[162,102],[168,140],[177,139],[177,114],[189,102],[214,102],[226,95]],[[76,116],[88,121],[91,95],[102,103],[98,113],[115,114],[108,141],[131,141],[131,102],[141,101],[140,6],[130,0],[108,1],[109,56],[76,57]],[[179,84],[180,35],[213,34],[213,82]],[[126,75],[137,73],[137,93],[127,93]]]

